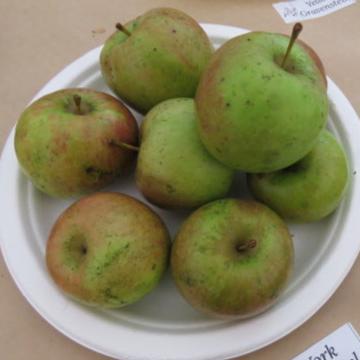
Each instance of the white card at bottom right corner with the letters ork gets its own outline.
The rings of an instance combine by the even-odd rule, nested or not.
[[[360,337],[350,323],[326,336],[293,360],[360,360]]]

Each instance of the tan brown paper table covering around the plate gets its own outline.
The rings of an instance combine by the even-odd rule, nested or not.
[[[53,75],[86,51],[102,44],[116,22],[158,6],[182,9],[201,22],[285,33],[289,33],[291,27],[282,21],[270,1],[263,0],[2,0],[0,148],[23,108]],[[327,74],[358,112],[359,19],[359,5],[352,5],[329,16],[304,22],[305,30],[301,35],[316,49]],[[282,340],[242,359],[290,359],[347,321],[360,330],[359,284],[360,263],[357,261],[340,288],[309,321]],[[106,358],[75,344],[43,320],[16,288],[2,257],[0,289],[1,359]]]

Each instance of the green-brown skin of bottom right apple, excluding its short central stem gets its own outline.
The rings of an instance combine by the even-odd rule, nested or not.
[[[255,247],[239,251],[239,246]],[[217,200],[185,220],[171,252],[174,281],[195,309],[221,318],[256,315],[278,299],[292,273],[284,221],[255,201]]]

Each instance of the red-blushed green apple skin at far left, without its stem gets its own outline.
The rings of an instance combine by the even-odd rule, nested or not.
[[[83,114],[76,113],[74,95]],[[54,197],[102,188],[124,174],[134,153],[112,142],[136,145],[138,126],[114,97],[88,89],[64,89],[32,103],[20,116],[15,151],[35,187]]]

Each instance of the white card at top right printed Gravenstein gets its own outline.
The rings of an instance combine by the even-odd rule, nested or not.
[[[355,4],[356,0],[292,0],[273,4],[287,23],[314,19]]]

